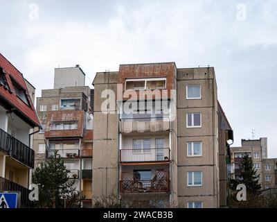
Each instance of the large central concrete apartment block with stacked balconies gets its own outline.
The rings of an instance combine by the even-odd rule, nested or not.
[[[93,85],[93,201],[226,205],[220,189],[233,133],[222,109],[218,116],[213,67],[120,65],[98,72]]]

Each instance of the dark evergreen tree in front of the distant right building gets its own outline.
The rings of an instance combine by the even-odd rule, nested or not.
[[[256,194],[261,188],[259,179],[260,174],[257,174],[257,169],[253,167],[251,157],[244,153],[240,162],[240,174],[238,178],[230,181],[230,187],[235,190],[237,185],[242,183],[247,187],[247,193]]]

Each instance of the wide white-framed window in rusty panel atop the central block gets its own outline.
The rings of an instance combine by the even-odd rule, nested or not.
[[[125,90],[166,89],[166,78],[132,78],[125,81]]]

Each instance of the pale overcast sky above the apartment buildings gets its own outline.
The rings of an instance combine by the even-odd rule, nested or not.
[[[241,139],[268,137],[277,157],[277,1],[0,0],[0,52],[41,89],[55,67],[96,71],[119,64],[213,66],[218,99]]]

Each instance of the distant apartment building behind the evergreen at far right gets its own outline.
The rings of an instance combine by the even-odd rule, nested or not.
[[[247,153],[253,161],[253,167],[257,169],[257,174],[260,174],[260,185],[263,187],[263,160],[267,159],[267,138],[260,139],[242,139],[242,146],[231,147],[231,175],[236,178],[240,173],[240,162],[242,155]]]

